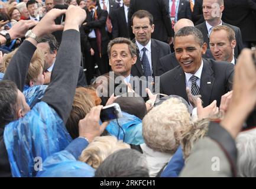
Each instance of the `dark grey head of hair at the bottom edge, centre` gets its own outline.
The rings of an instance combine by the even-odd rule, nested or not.
[[[121,149],[109,155],[98,169],[95,177],[150,177],[147,162],[135,149]]]

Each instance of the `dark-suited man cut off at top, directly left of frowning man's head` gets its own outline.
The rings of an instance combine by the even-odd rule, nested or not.
[[[128,11],[130,0],[124,0],[123,6],[115,9],[112,14],[112,37],[129,38],[128,33]]]

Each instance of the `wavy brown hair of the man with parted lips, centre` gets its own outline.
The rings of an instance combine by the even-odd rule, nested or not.
[[[111,48],[113,47],[113,45],[114,44],[122,44],[122,43],[125,43],[128,45],[128,48],[129,48],[129,51],[130,51],[132,57],[136,56],[136,50],[137,50],[136,45],[134,43],[132,43],[132,41],[129,40],[128,38],[118,37],[118,38],[115,38],[114,40],[111,40],[108,43],[108,57],[111,57]]]

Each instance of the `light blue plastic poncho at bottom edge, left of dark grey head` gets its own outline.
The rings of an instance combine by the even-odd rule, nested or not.
[[[95,170],[63,150],[48,157],[37,177],[94,177]]]

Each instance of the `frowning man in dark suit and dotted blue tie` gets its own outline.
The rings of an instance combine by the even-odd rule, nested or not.
[[[132,66],[132,76],[156,76],[159,58],[170,54],[170,46],[151,38],[154,32],[153,16],[148,11],[137,11],[132,15],[133,42],[137,45],[137,61]]]

